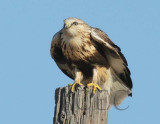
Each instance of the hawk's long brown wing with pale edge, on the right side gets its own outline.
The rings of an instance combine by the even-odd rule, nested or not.
[[[117,76],[128,88],[132,88],[132,80],[127,61],[121,53],[121,49],[115,45],[109,37],[100,29],[92,28],[91,40],[97,50],[106,58]]]

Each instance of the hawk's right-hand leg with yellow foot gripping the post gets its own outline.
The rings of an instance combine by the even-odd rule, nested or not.
[[[93,68],[92,83],[87,84],[88,87],[93,86],[93,93],[95,93],[96,89],[102,90],[101,87],[97,85],[97,78],[98,78],[97,68],[95,67]]]

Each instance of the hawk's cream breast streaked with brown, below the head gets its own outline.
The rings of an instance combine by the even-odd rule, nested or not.
[[[87,61],[87,58],[94,56],[97,52],[88,38],[64,38],[62,41],[62,52],[66,59],[72,61]]]

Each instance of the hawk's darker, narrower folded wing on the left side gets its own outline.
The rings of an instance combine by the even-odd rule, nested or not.
[[[61,49],[61,32],[57,32],[52,39],[50,54],[57,66],[61,69],[61,71],[66,74],[68,77],[73,79],[72,71],[68,66]]]

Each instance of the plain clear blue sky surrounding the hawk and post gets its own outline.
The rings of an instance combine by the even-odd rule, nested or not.
[[[50,57],[67,17],[105,31],[121,47],[133,98],[109,112],[109,124],[160,123],[159,0],[1,0],[0,124],[52,124],[54,91],[73,81]]]

